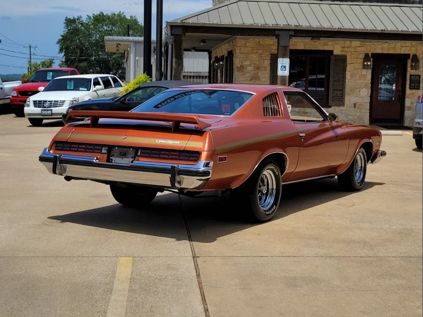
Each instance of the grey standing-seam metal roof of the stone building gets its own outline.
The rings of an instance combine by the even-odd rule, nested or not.
[[[232,0],[169,24],[421,33],[422,14],[418,4]]]

